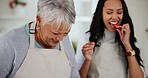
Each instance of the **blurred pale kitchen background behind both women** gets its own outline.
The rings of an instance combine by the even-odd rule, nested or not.
[[[35,20],[38,0],[0,0],[0,36],[9,30]],[[82,35],[88,30],[98,0],[74,0],[76,22],[69,33],[70,39],[77,46]],[[135,36],[142,51],[142,58],[148,76],[148,0],[125,0],[135,27]]]

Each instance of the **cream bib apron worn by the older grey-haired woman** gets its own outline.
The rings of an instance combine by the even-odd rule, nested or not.
[[[21,67],[13,78],[70,78],[71,65],[60,42],[61,50],[34,47],[30,34],[30,48]]]

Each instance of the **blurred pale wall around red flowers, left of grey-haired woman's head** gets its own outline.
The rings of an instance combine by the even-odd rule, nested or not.
[[[27,6],[23,7],[24,15],[14,13],[8,6],[10,0],[0,0],[0,35],[7,31],[21,27],[29,21],[35,20],[36,3],[38,0],[25,0]]]

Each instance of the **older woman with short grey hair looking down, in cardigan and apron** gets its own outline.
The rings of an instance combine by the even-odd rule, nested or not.
[[[36,21],[0,38],[0,78],[79,78],[67,34],[73,0],[39,0]]]

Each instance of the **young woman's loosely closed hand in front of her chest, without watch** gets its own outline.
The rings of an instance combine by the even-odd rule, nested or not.
[[[93,54],[93,49],[94,49],[95,43],[94,42],[89,42],[86,43],[83,48],[82,52],[85,57],[85,60],[91,61],[92,60],[92,54]]]

